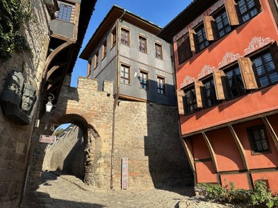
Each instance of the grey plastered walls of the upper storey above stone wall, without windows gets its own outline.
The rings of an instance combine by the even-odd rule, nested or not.
[[[121,64],[130,67],[130,85],[120,83],[119,92],[124,96],[140,98],[155,103],[163,103],[166,105],[176,105],[174,92],[174,63],[172,62],[172,46],[156,35],[130,24],[127,21],[122,21],[117,28],[118,37],[120,30],[124,28],[129,31],[129,46],[120,43],[118,39],[118,60],[116,58],[117,46],[111,46],[111,32],[116,24],[111,26],[102,40],[97,44],[97,47],[92,51],[90,59],[92,59],[90,78],[97,78],[99,84],[104,80],[115,82],[117,87],[117,67],[120,71]],[[139,35],[147,39],[147,53],[139,51],[138,42]],[[107,40],[106,57],[102,57],[102,44]],[[163,59],[160,60],[155,56],[155,43],[162,46]],[[99,51],[98,66],[95,67],[95,54]],[[89,59],[89,60],[90,60]],[[118,64],[118,66],[117,66]],[[148,89],[140,88],[140,70],[148,73]],[[165,78],[165,94],[158,94],[157,76]],[[99,85],[101,90],[101,85]]]

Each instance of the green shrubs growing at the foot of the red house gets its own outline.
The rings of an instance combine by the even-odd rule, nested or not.
[[[206,196],[218,202],[227,202],[231,204],[244,204],[247,206],[278,207],[278,196],[272,196],[270,190],[267,190],[263,180],[255,182],[254,190],[236,189],[233,182],[230,182],[231,189],[227,189],[220,184],[202,184],[206,190]]]

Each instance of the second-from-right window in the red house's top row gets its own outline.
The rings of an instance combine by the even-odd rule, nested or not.
[[[218,38],[223,37],[231,31],[227,12],[225,9],[221,10],[218,15],[215,16],[216,33]]]

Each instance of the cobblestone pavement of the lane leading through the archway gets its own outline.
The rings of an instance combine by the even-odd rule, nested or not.
[[[56,173],[57,174],[57,173]],[[72,175],[42,174],[36,191],[27,191],[22,208],[89,208],[89,207],[200,207],[224,208],[192,196],[191,189],[148,189],[143,191],[103,191],[83,184]]]

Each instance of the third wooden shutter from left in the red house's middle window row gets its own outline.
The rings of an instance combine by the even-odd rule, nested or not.
[[[216,98],[218,100],[224,100],[227,98],[226,87],[224,83],[224,72],[222,70],[213,71],[214,87],[216,92]]]

